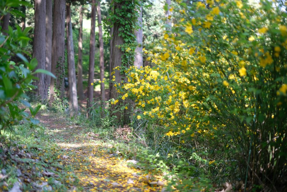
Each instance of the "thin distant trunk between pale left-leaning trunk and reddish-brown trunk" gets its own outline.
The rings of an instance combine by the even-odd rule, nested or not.
[[[79,7],[79,42],[78,42],[78,95],[79,99],[84,99],[83,91],[83,6]]]

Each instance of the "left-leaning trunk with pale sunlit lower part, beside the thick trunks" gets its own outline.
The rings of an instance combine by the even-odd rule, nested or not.
[[[75,57],[74,57],[74,45],[73,45],[73,31],[71,22],[71,4],[67,3],[67,63],[68,63],[68,81],[69,81],[69,110],[71,115],[75,115],[79,109],[77,99],[77,82],[76,82],[76,70],[75,70]]]

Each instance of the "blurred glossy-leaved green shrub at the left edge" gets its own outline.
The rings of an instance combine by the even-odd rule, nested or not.
[[[21,5],[30,4],[18,0],[3,1],[0,11],[7,14],[10,8],[13,10],[13,7]],[[0,30],[2,31],[1,28]],[[6,31],[7,35],[3,32],[0,34],[0,135],[2,130],[12,130],[13,126],[23,119],[31,121],[32,124],[38,123],[35,119],[28,118],[28,114],[24,112],[25,108],[20,108],[18,104],[22,103],[30,107],[32,116],[34,116],[39,108],[33,109],[25,100],[28,99],[25,93],[36,88],[32,85],[33,79],[36,79],[34,74],[44,73],[55,78],[51,72],[46,70],[37,69],[33,72],[38,64],[36,58],[29,62],[24,56],[28,54],[23,50],[31,40],[27,37],[30,30],[31,27],[22,30],[20,26],[16,26],[16,30],[13,30],[9,26]],[[13,62],[12,58],[15,57],[18,57],[21,62]]]

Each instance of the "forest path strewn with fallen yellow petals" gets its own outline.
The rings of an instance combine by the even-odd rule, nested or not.
[[[162,190],[161,186],[150,184],[150,176],[129,166],[129,161],[121,158],[118,151],[113,153],[113,145],[98,139],[98,134],[55,114],[42,113],[37,118],[46,127],[51,141],[63,151],[59,157],[63,166],[74,170],[63,182],[69,185],[70,179],[79,179],[79,186],[71,186],[71,191]]]

